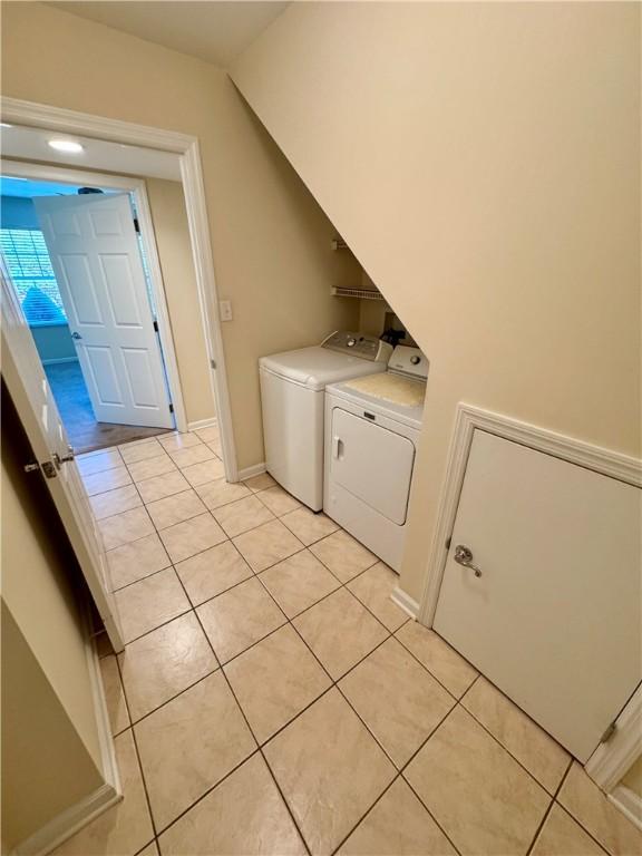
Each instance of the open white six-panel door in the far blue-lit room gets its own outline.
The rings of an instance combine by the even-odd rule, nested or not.
[[[129,196],[45,196],[33,204],[96,419],[172,428]]]

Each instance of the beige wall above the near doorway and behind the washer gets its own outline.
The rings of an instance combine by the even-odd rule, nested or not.
[[[334,231],[221,69],[40,3],[2,9],[7,96],[198,137],[239,466],[263,460],[257,358],[352,327]],[[195,319],[196,323],[196,319]]]

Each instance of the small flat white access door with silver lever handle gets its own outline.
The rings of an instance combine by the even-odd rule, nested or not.
[[[434,628],[582,761],[642,678],[641,493],[475,431]]]

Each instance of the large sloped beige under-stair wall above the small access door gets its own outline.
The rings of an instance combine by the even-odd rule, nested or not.
[[[458,401],[640,451],[639,19],[294,3],[232,69],[430,360],[416,599]]]

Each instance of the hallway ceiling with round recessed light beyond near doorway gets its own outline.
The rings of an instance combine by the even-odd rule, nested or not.
[[[49,139],[74,139],[85,148],[77,155],[55,152],[47,145]],[[2,127],[2,157],[19,157],[21,160],[39,160],[65,164],[80,169],[106,169],[110,173],[139,175],[148,178],[181,181],[179,156],[172,152],[159,152],[143,146],[126,146],[101,139],[57,134],[41,128],[20,125]],[[10,173],[10,166],[2,164],[2,172]]]

